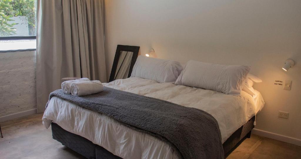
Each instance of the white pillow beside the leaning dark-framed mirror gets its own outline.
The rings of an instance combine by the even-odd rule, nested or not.
[[[150,79],[159,83],[175,82],[183,67],[179,62],[138,56],[131,77]]]

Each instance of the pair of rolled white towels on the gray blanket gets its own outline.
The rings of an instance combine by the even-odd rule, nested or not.
[[[100,81],[90,81],[89,78],[64,81],[61,85],[65,94],[84,96],[103,91],[104,86]]]

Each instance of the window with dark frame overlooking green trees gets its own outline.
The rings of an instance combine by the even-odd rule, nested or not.
[[[0,0],[0,52],[36,49],[36,0]]]

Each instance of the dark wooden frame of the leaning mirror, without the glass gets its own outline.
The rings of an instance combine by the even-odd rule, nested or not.
[[[112,66],[109,82],[115,80],[114,79],[115,78],[115,73],[116,73],[117,64],[118,64],[118,61],[119,61],[119,56],[120,56],[121,51],[133,52],[128,78],[131,77],[133,67],[134,67],[135,62],[136,62],[137,57],[138,57],[139,49],[140,49],[140,46],[117,45],[117,49],[116,49],[116,53],[115,53],[115,57],[114,57],[114,61],[113,61],[113,66]]]

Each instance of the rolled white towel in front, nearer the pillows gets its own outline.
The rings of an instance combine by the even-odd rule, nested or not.
[[[95,94],[104,90],[100,81],[73,82],[71,84],[71,94],[75,96],[84,96]]]

